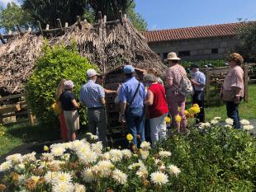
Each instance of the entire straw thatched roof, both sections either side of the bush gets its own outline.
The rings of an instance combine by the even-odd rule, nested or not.
[[[79,27],[79,25],[82,25]],[[113,22],[105,26],[92,26],[77,22],[65,30],[64,35],[49,40],[50,44],[69,45],[75,40],[78,51],[91,63],[96,63],[102,73],[108,73],[124,64],[135,68],[165,70],[159,56],[149,49],[147,41],[130,21]],[[0,90],[22,91],[22,84],[31,75],[35,61],[44,43],[42,35],[19,35],[0,46]]]

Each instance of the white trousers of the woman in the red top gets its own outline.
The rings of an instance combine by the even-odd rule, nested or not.
[[[167,117],[167,114],[164,114],[162,116],[149,119],[150,122],[150,138],[153,147],[155,144],[166,137],[166,122],[165,117]]]

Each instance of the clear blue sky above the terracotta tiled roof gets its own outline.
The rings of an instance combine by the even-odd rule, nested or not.
[[[1,0],[0,0],[1,1]],[[135,0],[149,30],[256,20],[256,0]]]

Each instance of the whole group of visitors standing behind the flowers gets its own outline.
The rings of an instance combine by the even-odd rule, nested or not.
[[[88,69],[86,76],[88,82],[83,85],[79,95],[81,105],[88,109],[89,132],[97,134],[104,147],[107,147],[107,115],[105,110],[106,93],[116,93],[116,101],[120,105],[120,121],[126,124],[128,133],[133,136],[132,143],[137,146],[145,141],[145,109],[149,114],[150,140],[154,146],[160,139],[166,137],[167,127],[165,118],[168,114],[172,117],[172,128],[184,132],[187,119],[184,113],[186,95],[180,92],[181,82],[187,77],[187,72],[180,63],[177,54],[168,54],[168,72],[164,81],[154,70],[144,73],[143,81],[135,78],[135,68],[126,65],[123,73],[126,82],[123,82],[118,91],[104,89],[98,80],[100,74],[94,69]],[[243,58],[239,54],[231,54],[229,58],[230,72],[226,75],[221,89],[221,98],[226,102],[227,115],[234,119],[235,128],[239,129],[239,101],[244,96],[244,72],[240,65]],[[197,114],[197,123],[205,121],[204,114],[204,87],[206,76],[201,73],[197,64],[191,66],[192,78],[190,82],[193,87],[192,103],[200,106],[201,111]],[[63,86],[62,86],[63,85]],[[57,90],[57,101],[63,112],[59,114],[62,136],[64,139],[76,139],[76,131],[79,129],[79,105],[73,95],[73,82],[62,80]],[[177,116],[181,120],[176,120]]]

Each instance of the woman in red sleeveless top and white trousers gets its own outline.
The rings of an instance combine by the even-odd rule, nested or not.
[[[168,104],[164,87],[159,84],[158,77],[145,74],[144,81],[149,87],[145,105],[148,105],[149,110],[150,138],[155,146],[155,143],[166,137],[165,117],[168,115]]]

